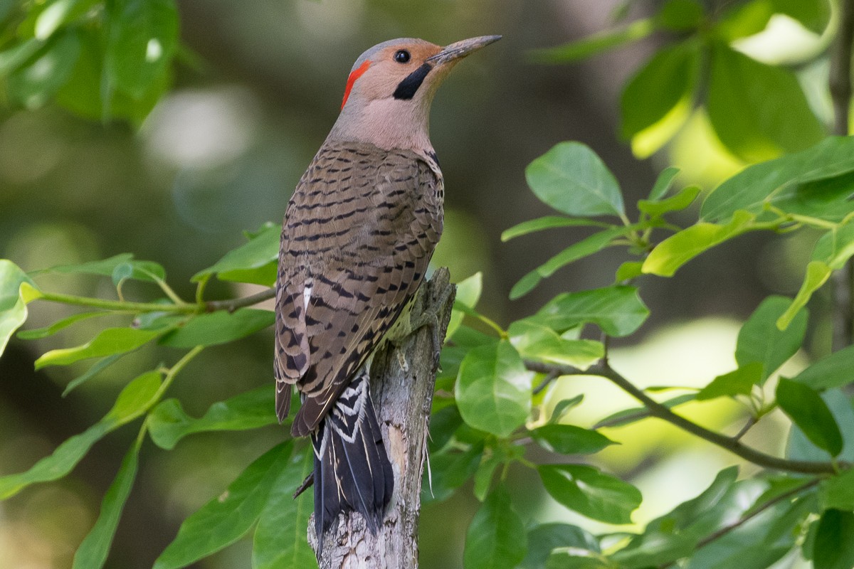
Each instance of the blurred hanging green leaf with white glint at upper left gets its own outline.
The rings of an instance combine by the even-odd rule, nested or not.
[[[178,44],[173,0],[121,0],[109,22],[105,72],[134,99],[145,96],[172,61]]]

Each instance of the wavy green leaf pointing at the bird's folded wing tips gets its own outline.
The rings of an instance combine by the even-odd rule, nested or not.
[[[151,411],[149,434],[161,449],[172,450],[179,440],[193,433],[244,431],[273,425],[278,421],[273,412],[273,398],[271,387],[259,387],[211,405],[198,419],[187,415],[178,399],[167,399]]]

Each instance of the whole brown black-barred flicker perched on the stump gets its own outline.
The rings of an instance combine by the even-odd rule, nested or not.
[[[276,413],[314,447],[319,539],[342,511],[377,531],[394,473],[371,404],[370,361],[424,280],[442,235],[430,103],[450,69],[500,36],[377,44],[356,60],[341,114],[284,216],[276,282]]]

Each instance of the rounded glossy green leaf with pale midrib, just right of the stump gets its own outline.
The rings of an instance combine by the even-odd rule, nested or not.
[[[507,340],[469,351],[457,377],[460,415],[471,427],[509,436],[530,413],[532,377]]]

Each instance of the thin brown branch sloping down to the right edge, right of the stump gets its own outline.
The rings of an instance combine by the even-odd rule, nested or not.
[[[645,392],[640,390],[638,387],[635,387],[631,381],[623,377],[623,375],[617,373],[614,369],[611,369],[611,366],[607,363],[600,362],[591,366],[587,370],[583,370],[570,365],[525,360],[525,367],[531,371],[539,372],[541,374],[548,374],[556,371],[560,375],[597,375],[599,377],[604,377],[606,380],[611,380],[612,383],[623,389],[624,392],[629,393],[629,395],[644,404],[646,409],[649,409],[649,414],[653,417],[658,417],[658,419],[667,421],[672,425],[681,428],[683,431],[687,431],[687,433],[703,438],[711,444],[715,444],[722,449],[728,450],[734,455],[740,456],[746,461],[757,464],[758,466],[785,472],[805,474],[833,474],[837,471],[837,468],[834,467],[834,464],[831,462],[794,461],[780,458],[778,456],[766,455],[765,453],[753,449],[746,444],[742,444],[737,438],[727,437],[721,433],[716,433],[705,427],[701,427],[693,421],[688,421],[685,417],[676,415],[676,413],[665,407],[663,404],[660,404],[655,399],[650,398]],[[851,465],[847,463],[838,463],[837,466],[843,469],[851,467]]]

